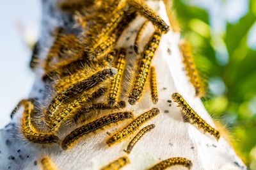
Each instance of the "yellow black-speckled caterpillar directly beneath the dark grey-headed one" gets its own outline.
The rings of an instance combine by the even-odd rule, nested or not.
[[[72,101],[64,109],[54,112],[54,114],[51,116],[51,119],[47,118],[48,127],[53,132],[56,132],[60,128],[61,123],[66,121],[68,118],[76,115],[76,113],[79,112],[79,110],[83,108],[85,104],[100,97],[101,95],[106,93],[106,90],[107,89],[105,87],[102,87],[98,88],[96,91],[93,90],[93,92],[83,92],[81,94],[81,97]]]

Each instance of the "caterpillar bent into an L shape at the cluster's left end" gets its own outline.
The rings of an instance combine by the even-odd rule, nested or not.
[[[21,129],[22,134],[26,139],[32,143],[39,144],[49,144],[57,143],[59,138],[58,136],[51,134],[49,132],[38,132],[36,128],[31,123],[31,113],[34,110],[34,104],[31,101],[24,102],[24,112],[22,116]]]

